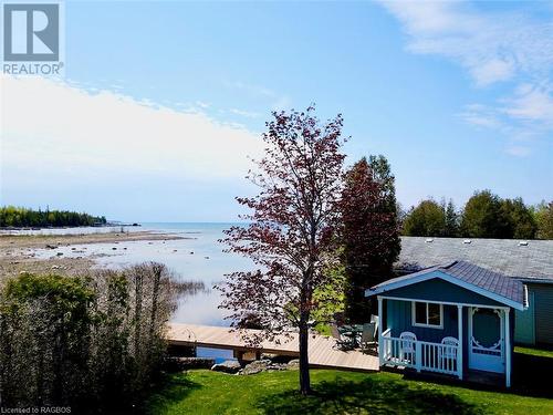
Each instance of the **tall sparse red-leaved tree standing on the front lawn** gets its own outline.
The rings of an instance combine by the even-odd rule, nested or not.
[[[259,194],[237,198],[251,211],[242,217],[249,225],[232,227],[225,239],[229,251],[251,258],[257,270],[227,276],[220,307],[234,326],[254,315],[265,339],[298,331],[300,391],[307,394],[309,332],[320,305],[313,292],[334,283],[328,269],[337,261],[343,120],[323,124],[313,106],[273,116],[263,134],[264,157],[248,175]]]

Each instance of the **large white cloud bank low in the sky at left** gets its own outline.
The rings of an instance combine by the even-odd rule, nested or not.
[[[154,173],[217,181],[242,178],[247,156],[262,149],[258,134],[198,111],[41,77],[0,81],[2,173],[10,177],[48,165],[67,179]]]

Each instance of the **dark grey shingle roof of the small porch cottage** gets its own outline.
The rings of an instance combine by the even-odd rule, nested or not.
[[[373,287],[373,289],[383,288],[400,281],[408,281],[415,277],[434,271],[441,271],[455,279],[512,300],[519,304],[524,303],[524,287],[520,280],[507,278],[504,274],[478,267],[467,261],[453,261],[445,266],[430,267],[408,276],[393,278]]]

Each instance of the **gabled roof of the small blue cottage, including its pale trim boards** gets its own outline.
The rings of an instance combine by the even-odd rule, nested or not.
[[[524,286],[521,281],[514,278],[507,278],[499,272],[474,266],[467,261],[453,261],[445,266],[431,267],[408,276],[393,278],[366,290],[365,294],[382,294],[432,278],[444,279],[520,310],[524,307]]]

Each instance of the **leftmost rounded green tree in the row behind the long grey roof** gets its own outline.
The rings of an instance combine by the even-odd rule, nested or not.
[[[446,228],[446,214],[432,199],[411,208],[404,220],[404,234],[410,237],[439,237]]]

